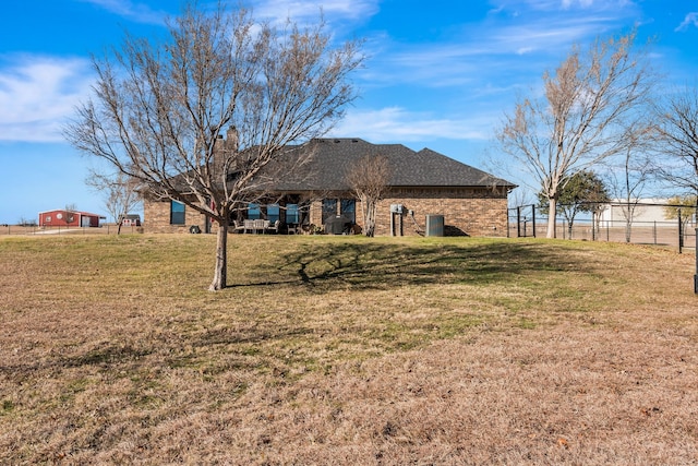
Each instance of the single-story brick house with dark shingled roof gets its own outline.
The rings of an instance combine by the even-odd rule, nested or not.
[[[414,152],[401,144],[371,144],[360,139],[315,139],[291,147],[289,157],[310,154],[300,170],[285,172],[269,184],[269,202],[250,203],[237,219],[279,220],[293,231],[324,229],[347,232],[361,228],[362,208],[347,182],[347,174],[365,155],[386,157],[388,191],[378,203],[376,236],[425,235],[433,218],[443,220],[447,236],[506,236],[507,194],[515,186],[429,148]],[[148,232],[185,232],[193,226],[215,229],[184,204],[144,202]],[[337,228],[336,219],[342,225]],[[438,225],[438,222],[436,223]]]

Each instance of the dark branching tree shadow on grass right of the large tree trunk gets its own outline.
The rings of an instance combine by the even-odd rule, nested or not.
[[[521,274],[587,268],[588,264],[571,258],[568,249],[549,243],[318,243],[304,244],[287,254],[277,266],[276,279],[268,271],[264,277],[255,277],[253,272],[250,283],[232,287],[302,284],[323,291],[337,284],[363,289],[426,284],[489,285]]]

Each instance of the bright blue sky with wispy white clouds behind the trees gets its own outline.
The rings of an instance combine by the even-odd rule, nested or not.
[[[200,0],[205,3],[205,0]],[[88,158],[61,124],[91,88],[91,53],[163,32],[169,0],[7,1],[0,14],[0,224],[74,204],[106,215],[84,180]],[[430,147],[505,175],[494,130],[516,97],[540,88],[574,44],[637,26],[655,38],[665,83],[698,75],[698,1],[660,0],[250,0],[257,17],[314,22],[322,7],[337,40],[365,39],[354,75],[361,97],[330,135]],[[496,159],[498,167],[489,164]],[[505,175],[512,181],[510,175]]]

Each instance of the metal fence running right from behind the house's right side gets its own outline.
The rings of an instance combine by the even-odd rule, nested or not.
[[[571,228],[565,218],[555,218],[555,237],[562,239],[655,244],[677,248],[679,252],[696,248],[695,218],[685,222],[678,218],[651,222],[579,218],[575,219]],[[510,238],[544,238],[546,235],[547,217],[540,214],[538,206],[509,208]]]

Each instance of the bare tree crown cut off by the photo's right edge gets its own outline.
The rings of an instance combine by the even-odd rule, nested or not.
[[[655,170],[660,178],[698,200],[698,89],[686,87],[667,96],[655,108],[666,152]]]

